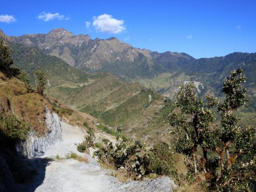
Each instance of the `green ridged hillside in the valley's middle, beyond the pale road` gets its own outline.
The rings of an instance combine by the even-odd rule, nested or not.
[[[125,83],[108,75],[88,85],[66,87],[62,84],[50,87],[47,92],[62,103],[97,117],[98,123],[112,126],[112,130],[121,126],[126,134],[143,140],[148,140],[145,136],[149,132],[155,141],[168,140],[168,136],[160,138],[156,133],[168,127],[160,113],[164,98],[137,82]],[[159,117],[155,117],[158,113]]]

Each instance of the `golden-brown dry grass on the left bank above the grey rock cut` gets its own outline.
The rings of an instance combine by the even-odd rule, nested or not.
[[[0,72],[0,109],[5,114],[14,113],[19,119],[29,123],[38,135],[48,132],[44,125],[44,104],[49,103],[39,94],[27,93],[23,82],[16,78],[5,78]]]

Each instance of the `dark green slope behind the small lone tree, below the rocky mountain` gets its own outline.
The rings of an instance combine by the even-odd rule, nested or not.
[[[66,81],[88,81],[88,73],[70,67],[66,62],[55,56],[42,53],[39,48],[24,47],[20,44],[11,44],[10,47],[13,50],[12,58],[15,66],[26,70],[30,75],[31,82],[35,82],[32,72],[38,67],[48,71],[50,85],[57,85]]]

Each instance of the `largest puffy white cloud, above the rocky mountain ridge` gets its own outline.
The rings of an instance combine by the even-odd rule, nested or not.
[[[92,25],[97,31],[102,33],[119,34],[125,31],[123,20],[117,20],[109,14],[99,15],[98,17],[93,17]]]

